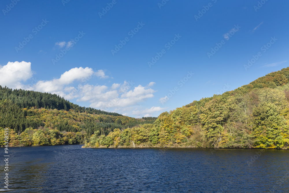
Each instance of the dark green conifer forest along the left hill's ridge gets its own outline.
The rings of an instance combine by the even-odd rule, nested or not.
[[[81,107],[77,104],[73,104],[68,100],[61,98],[59,95],[50,94],[50,93],[41,93],[36,91],[25,91],[22,89],[9,89],[8,87],[2,87],[0,85],[0,100],[9,99],[14,104],[20,108],[30,109],[34,108],[45,108],[45,109],[57,109],[68,111],[73,109],[81,113],[90,113],[90,114],[105,114],[113,116],[122,116],[118,113],[112,113],[107,111],[101,111],[90,107]]]

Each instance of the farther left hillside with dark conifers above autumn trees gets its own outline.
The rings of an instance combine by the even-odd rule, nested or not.
[[[0,86],[0,135],[9,128],[14,146],[83,144],[96,131],[108,135],[115,128],[123,130],[155,120],[81,107],[55,94]]]

